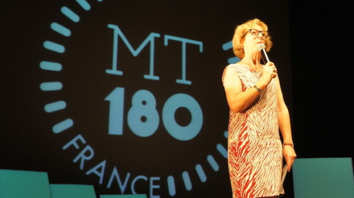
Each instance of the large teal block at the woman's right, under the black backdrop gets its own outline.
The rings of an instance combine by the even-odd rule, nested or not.
[[[293,164],[295,198],[354,198],[351,157],[303,158]]]

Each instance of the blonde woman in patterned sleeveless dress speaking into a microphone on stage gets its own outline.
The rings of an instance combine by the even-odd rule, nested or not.
[[[277,69],[274,63],[261,63],[258,47],[264,44],[269,51],[273,45],[267,31],[259,19],[238,25],[232,44],[241,61],[225,67],[222,74],[230,109],[228,164],[233,198],[284,194],[282,162],[285,159],[290,171],[296,157]]]

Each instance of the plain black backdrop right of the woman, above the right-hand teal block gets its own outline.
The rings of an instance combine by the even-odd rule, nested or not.
[[[353,1],[289,1],[289,8],[298,157],[353,157],[353,36],[344,33]]]

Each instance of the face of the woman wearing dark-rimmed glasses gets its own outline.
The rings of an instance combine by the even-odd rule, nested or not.
[[[244,54],[256,54],[260,53],[258,45],[265,43],[267,32],[262,32],[263,28],[260,25],[256,25],[251,28],[245,35],[243,41]]]

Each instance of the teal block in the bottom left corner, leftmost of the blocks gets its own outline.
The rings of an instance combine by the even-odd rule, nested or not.
[[[0,169],[0,197],[50,198],[48,173]]]

